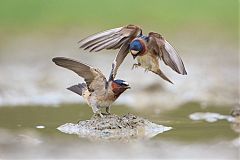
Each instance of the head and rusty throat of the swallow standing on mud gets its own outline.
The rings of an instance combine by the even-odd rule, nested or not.
[[[125,90],[130,88],[131,87],[129,86],[129,84],[124,80],[117,79],[112,81],[112,91],[115,97],[120,96],[120,94],[122,94]]]

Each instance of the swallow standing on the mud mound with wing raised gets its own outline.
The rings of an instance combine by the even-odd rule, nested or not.
[[[110,79],[107,81],[99,69],[81,62],[64,57],[56,57],[52,61],[56,65],[70,69],[84,78],[85,83],[73,85],[67,89],[82,96],[87,104],[92,107],[93,113],[101,117],[100,109],[106,108],[107,114],[110,114],[111,104],[125,90],[130,88],[124,80]]]

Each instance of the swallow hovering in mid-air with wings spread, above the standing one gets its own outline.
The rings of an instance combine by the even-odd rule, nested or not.
[[[187,74],[181,57],[168,41],[160,34],[154,32],[144,36],[142,29],[135,25],[127,25],[96,33],[80,40],[79,44],[80,48],[90,52],[120,48],[112,63],[111,75],[113,78],[129,52],[131,52],[134,59],[137,57],[138,63],[134,64],[133,68],[141,66],[146,71],[151,71],[170,83],[172,82],[160,70],[159,60],[163,60],[166,65],[177,73]]]

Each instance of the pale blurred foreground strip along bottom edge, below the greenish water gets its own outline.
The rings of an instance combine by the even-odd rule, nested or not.
[[[209,149],[210,148],[210,149]],[[0,158],[177,158],[237,159],[238,148],[229,141],[180,143],[177,141],[88,142],[0,131]]]

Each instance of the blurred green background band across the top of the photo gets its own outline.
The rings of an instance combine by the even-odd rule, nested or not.
[[[237,0],[1,0],[1,33],[137,24],[177,32],[203,27],[234,34]]]

